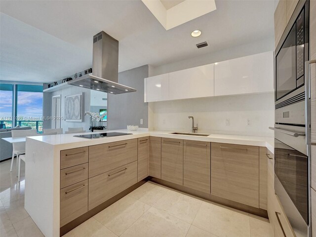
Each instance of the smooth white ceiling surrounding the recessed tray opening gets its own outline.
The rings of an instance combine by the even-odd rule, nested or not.
[[[274,34],[274,0],[216,0],[166,31],[141,0],[1,0],[1,80],[50,82],[92,66],[92,37],[119,41],[119,71],[197,57]],[[2,14],[4,13],[4,14]],[[202,35],[190,33],[199,29]],[[208,40],[210,46],[195,44]]]

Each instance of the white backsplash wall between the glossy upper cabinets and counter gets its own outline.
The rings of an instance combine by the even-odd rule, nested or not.
[[[273,137],[274,103],[274,93],[151,102],[149,127],[190,132],[194,116],[198,132]]]

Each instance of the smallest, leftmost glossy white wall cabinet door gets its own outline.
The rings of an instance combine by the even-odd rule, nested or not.
[[[169,100],[169,74],[145,78],[145,102]]]

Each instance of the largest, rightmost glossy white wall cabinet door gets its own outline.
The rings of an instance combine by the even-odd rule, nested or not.
[[[214,95],[274,91],[274,54],[264,52],[214,65]]]

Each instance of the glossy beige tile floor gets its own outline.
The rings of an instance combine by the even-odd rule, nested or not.
[[[17,183],[0,163],[0,237],[43,236],[24,209]],[[15,167],[15,166],[13,166]],[[22,169],[24,164],[22,165]],[[64,237],[272,237],[267,219],[147,182]]]

